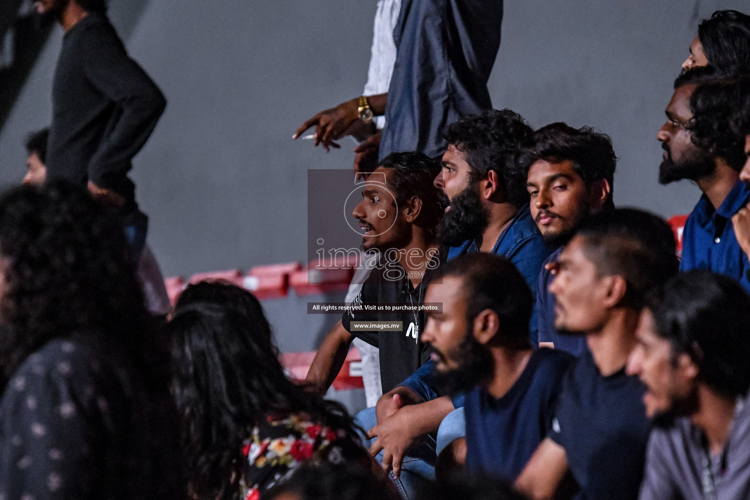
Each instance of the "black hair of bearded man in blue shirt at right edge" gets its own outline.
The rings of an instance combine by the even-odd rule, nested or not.
[[[687,124],[691,140],[698,148],[724,159],[739,172],[745,164],[745,136],[736,133],[735,80],[721,79],[712,67],[697,67],[675,80],[675,88],[695,84],[690,96],[693,118]]]

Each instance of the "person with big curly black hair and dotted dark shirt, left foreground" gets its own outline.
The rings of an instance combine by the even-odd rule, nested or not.
[[[184,498],[147,318],[121,223],[88,191],[0,197],[1,498]]]

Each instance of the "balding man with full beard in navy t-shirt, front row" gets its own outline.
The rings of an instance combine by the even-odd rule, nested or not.
[[[514,481],[547,435],[572,358],[532,349],[531,290],[507,259],[458,256],[446,264],[443,282],[428,287],[427,300],[443,304],[422,334],[434,349],[436,382],[451,394],[468,391],[466,438],[446,448],[441,461]]]

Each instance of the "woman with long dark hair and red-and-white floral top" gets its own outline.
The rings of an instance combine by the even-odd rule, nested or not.
[[[346,410],[287,378],[250,292],[188,286],[166,331],[190,498],[256,500],[302,463],[373,464]]]

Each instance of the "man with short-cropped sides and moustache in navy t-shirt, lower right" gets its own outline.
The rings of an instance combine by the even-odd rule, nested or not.
[[[565,245],[550,285],[555,326],[584,334],[589,350],[562,379],[549,436],[516,481],[522,493],[552,499],[569,471],[577,499],[637,498],[650,423],[625,364],[646,296],[677,267],[670,227],[634,208],[593,215]]]

